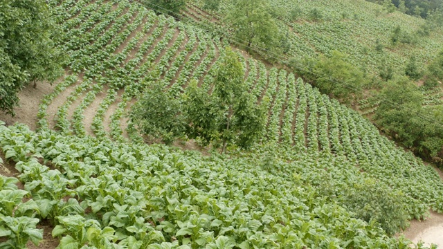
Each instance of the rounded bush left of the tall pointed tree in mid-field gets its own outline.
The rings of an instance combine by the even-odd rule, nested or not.
[[[172,92],[164,91],[161,84],[146,89],[132,107],[129,118],[142,133],[161,138],[166,144],[184,136],[181,102]]]

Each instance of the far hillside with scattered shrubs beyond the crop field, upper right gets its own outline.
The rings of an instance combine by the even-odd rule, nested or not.
[[[195,14],[201,12],[199,8],[205,8],[204,1],[188,2],[188,17],[199,21],[209,20],[204,14]],[[390,107],[408,109],[401,106],[394,95],[379,94],[380,90],[389,89],[390,82],[396,78],[406,76],[410,81],[408,84],[424,84],[415,86],[415,92],[421,90],[424,99],[421,102],[424,107],[417,112],[419,123],[415,125],[425,127],[426,135],[413,135],[413,131],[410,131],[413,126],[396,122],[392,116],[391,119],[373,121],[415,154],[440,164],[443,133],[438,123],[443,114],[437,110],[443,104],[443,77],[437,68],[441,68],[443,53],[442,28],[430,19],[402,15],[393,5],[394,10],[391,11],[386,7],[386,2],[383,2],[384,6],[378,6],[365,1],[275,0],[266,3],[264,8],[258,3],[251,4],[255,12],[266,12],[266,18],[263,16],[261,19],[271,18],[271,26],[277,24],[273,39],[268,38],[274,41],[273,46],[251,44],[244,37],[235,35],[235,30],[239,30],[236,27],[267,33],[265,29],[260,29],[260,19],[253,19],[249,23],[232,20],[232,16],[239,16],[235,12],[240,9],[235,6],[237,1],[221,1],[218,10],[207,11],[223,20],[219,26],[223,23],[233,30],[230,37],[233,44],[246,46],[271,62],[290,66],[322,93],[362,110],[369,118],[373,118],[371,114],[376,112],[377,117],[390,115],[384,113],[386,109],[378,109],[382,102]],[[428,4],[429,11],[436,8]],[[433,16],[437,17],[438,13],[436,11]],[[217,25],[217,22],[211,21]],[[206,29],[213,30],[208,27],[212,26],[208,25]],[[408,114],[403,114],[405,116],[401,118],[406,120]],[[411,144],[404,140],[406,136],[412,136],[415,142]]]

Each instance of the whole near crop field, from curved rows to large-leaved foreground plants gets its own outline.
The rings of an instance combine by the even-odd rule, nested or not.
[[[37,243],[44,223],[60,248],[406,248],[347,201],[372,187],[397,196],[407,219],[443,212],[433,167],[239,50],[248,89],[269,110],[260,144],[208,156],[146,145],[127,118],[138,96],[154,82],[179,96],[190,80],[211,92],[229,44],[138,3],[48,2],[65,75],[39,104],[36,131],[0,122],[0,163],[19,174],[0,176],[10,243]]]

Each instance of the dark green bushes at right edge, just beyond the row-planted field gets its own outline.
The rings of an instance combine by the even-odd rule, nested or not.
[[[443,148],[443,120],[440,107],[422,107],[423,94],[406,77],[388,82],[379,93],[381,103],[375,120],[403,145],[436,156]]]

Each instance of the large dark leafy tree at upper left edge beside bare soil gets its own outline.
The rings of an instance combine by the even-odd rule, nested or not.
[[[55,24],[44,0],[0,4],[0,109],[14,115],[17,93],[29,82],[53,81],[62,72],[53,42]],[[35,85],[36,86],[36,85]]]

